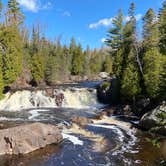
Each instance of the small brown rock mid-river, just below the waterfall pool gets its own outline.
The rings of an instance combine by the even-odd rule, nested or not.
[[[80,126],[86,126],[86,125],[92,123],[92,120],[91,120],[91,119],[86,118],[86,117],[81,117],[81,116],[74,116],[74,117],[71,119],[71,121],[72,121],[73,123],[76,123],[76,124],[80,125]]]

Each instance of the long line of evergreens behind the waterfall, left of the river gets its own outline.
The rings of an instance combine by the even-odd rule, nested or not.
[[[30,75],[31,85],[55,84],[72,75],[94,76],[112,72],[112,61],[103,49],[83,49],[74,38],[69,46],[42,35],[36,24],[30,31],[24,26],[24,15],[17,0],[9,0],[7,9],[0,0],[0,96],[19,77]],[[32,34],[32,35],[31,35]]]

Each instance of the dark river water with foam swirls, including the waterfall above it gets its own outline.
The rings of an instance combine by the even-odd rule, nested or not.
[[[61,106],[43,91],[7,94],[0,102],[3,128],[37,121],[55,124],[63,127],[64,141],[28,155],[0,156],[0,166],[157,166],[166,159],[166,139],[160,147],[153,146],[147,141],[153,135],[118,117],[94,120],[85,128],[64,127],[75,115],[94,118],[102,111],[105,106],[97,101],[96,85],[86,82],[56,88],[64,94]]]

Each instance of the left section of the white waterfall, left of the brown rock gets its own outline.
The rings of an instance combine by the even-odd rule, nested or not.
[[[38,107],[56,107],[54,99],[47,97],[44,91],[31,92],[28,90],[7,93],[0,101],[0,110],[20,111]]]

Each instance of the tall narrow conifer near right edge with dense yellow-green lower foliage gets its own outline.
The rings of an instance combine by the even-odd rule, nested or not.
[[[149,9],[143,18],[144,83],[146,92],[152,99],[161,97],[164,85],[162,79],[164,59],[158,48],[159,31],[155,19],[155,13],[152,9]]]

